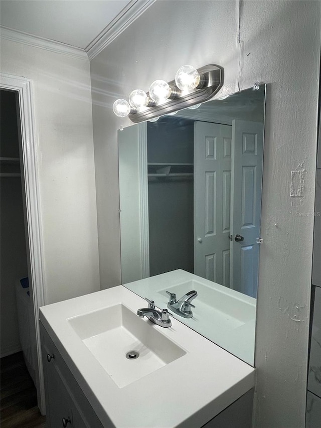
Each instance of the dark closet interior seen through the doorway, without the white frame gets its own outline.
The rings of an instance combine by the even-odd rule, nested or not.
[[[39,370],[19,110],[17,92],[1,89],[1,358],[3,363],[22,355],[21,365],[24,362],[36,385]]]

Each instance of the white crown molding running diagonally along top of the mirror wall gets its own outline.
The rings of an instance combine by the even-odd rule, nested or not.
[[[95,39],[86,46],[88,58],[92,60],[130,24],[145,12],[156,0],[131,0]]]

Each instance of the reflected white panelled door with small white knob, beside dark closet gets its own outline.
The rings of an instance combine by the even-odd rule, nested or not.
[[[231,126],[195,122],[194,273],[227,287],[231,150]]]

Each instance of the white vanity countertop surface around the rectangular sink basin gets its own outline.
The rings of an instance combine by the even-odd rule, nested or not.
[[[122,286],[40,308],[40,321],[97,413],[117,428],[197,428],[254,386],[253,367],[176,319],[150,324],[186,354],[119,388],[80,340],[69,318],[125,303],[136,312],[146,302]],[[108,416],[107,416],[108,415]]]

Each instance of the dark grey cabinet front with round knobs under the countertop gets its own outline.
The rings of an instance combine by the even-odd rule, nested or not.
[[[104,428],[47,331],[40,328],[47,428]]]

